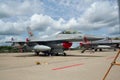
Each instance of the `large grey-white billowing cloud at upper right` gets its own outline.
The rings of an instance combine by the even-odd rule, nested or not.
[[[118,23],[117,10],[109,2],[94,2],[84,12],[79,22],[84,29],[100,29]]]

